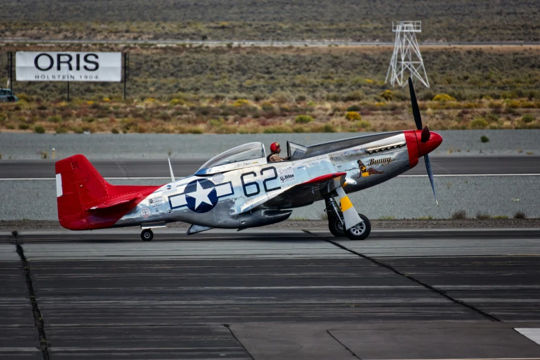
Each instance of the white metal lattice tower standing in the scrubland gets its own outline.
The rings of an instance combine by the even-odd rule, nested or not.
[[[430,81],[416,40],[416,32],[422,32],[422,21],[392,21],[392,32],[396,33],[396,41],[385,82],[405,86],[408,78],[405,73],[408,73],[413,80],[416,78],[429,88]]]

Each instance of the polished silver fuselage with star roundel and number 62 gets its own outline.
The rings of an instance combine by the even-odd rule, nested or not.
[[[283,221],[290,216],[289,209],[330,197],[336,186],[356,192],[416,166],[421,154],[414,136],[410,130],[343,139],[307,147],[291,161],[261,159],[239,163],[238,170],[195,174],[165,184],[114,227],[184,221],[209,228],[249,228]],[[336,173],[345,173],[339,183],[309,186],[312,179]]]

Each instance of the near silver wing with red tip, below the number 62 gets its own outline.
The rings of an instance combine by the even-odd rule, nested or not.
[[[264,203],[269,208],[290,208],[293,204],[298,206],[302,203],[313,203],[324,198],[339,186],[345,183],[346,172],[334,172],[315,177],[303,183],[293,184],[286,188],[267,192],[253,199],[246,201],[240,208],[236,208],[232,214],[247,212]]]

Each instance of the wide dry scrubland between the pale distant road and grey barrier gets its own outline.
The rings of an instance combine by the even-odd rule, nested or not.
[[[424,57],[432,88],[417,88],[423,121],[432,130],[540,128],[540,46],[510,48],[428,48]],[[122,83],[73,84],[73,101],[67,103],[63,83],[16,82],[23,101],[0,104],[1,131],[29,132],[35,126],[59,133],[218,134],[414,128],[408,90],[384,83],[388,47],[47,47],[66,49],[129,52],[130,99],[122,99]],[[0,68],[5,66],[6,58],[0,57]],[[360,120],[347,119],[347,112],[358,112]],[[300,115],[314,121],[297,122]]]

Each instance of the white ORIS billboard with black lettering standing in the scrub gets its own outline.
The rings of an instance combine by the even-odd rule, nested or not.
[[[122,81],[121,52],[17,52],[17,81]]]

